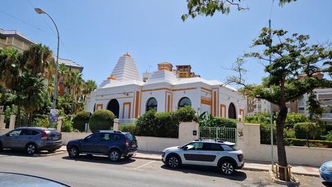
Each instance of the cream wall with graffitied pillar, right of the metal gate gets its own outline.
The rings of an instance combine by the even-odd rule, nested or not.
[[[271,161],[271,145],[260,143],[259,124],[237,123],[238,147],[244,158],[252,161]],[[243,134],[243,136],[241,136]],[[332,159],[332,149],[286,146],[287,161],[290,164],[321,166]],[[277,145],[273,145],[274,161],[277,161]]]

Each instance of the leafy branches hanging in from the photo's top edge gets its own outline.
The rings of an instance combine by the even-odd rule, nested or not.
[[[296,0],[279,0],[279,6],[293,1]],[[232,7],[239,11],[249,10],[243,6],[243,0],[187,0],[188,12],[181,19],[185,21],[188,17],[195,18],[197,15],[213,16],[215,12],[228,15]]]

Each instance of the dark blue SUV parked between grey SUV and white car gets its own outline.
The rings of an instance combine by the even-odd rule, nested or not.
[[[102,130],[86,136],[84,139],[67,143],[69,157],[80,154],[107,155],[111,161],[119,161],[121,157],[129,159],[137,152],[135,136],[129,132]]]

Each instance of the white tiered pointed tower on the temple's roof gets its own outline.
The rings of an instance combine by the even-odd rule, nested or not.
[[[111,75],[118,81],[141,80],[135,60],[133,60],[133,57],[128,52],[119,58]]]

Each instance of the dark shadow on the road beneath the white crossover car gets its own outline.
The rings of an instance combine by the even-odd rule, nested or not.
[[[183,166],[178,169],[168,168],[167,166],[163,165],[160,166],[165,170],[172,170],[184,173],[192,173],[196,175],[206,175],[210,177],[223,177],[225,179],[230,179],[234,181],[244,181],[247,178],[246,173],[235,170],[233,175],[222,175],[218,168],[208,167],[208,166]]]

